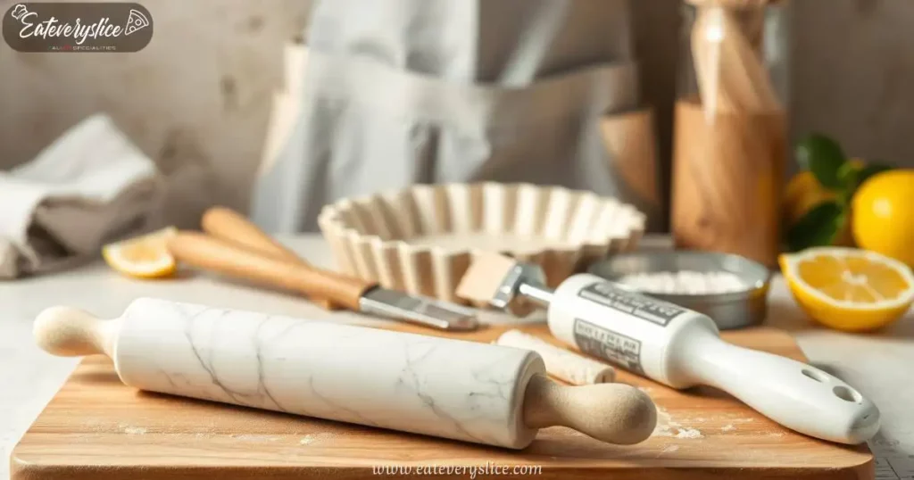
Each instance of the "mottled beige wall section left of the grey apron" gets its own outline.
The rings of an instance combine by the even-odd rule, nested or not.
[[[13,0],[0,0],[5,12]],[[210,202],[247,207],[282,45],[303,0],[146,0],[148,47],[133,54],[21,54],[0,45],[0,168],[69,125],[110,112],[171,176],[169,213],[188,225]]]

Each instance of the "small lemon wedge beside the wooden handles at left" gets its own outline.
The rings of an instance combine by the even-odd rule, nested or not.
[[[165,241],[177,234],[168,227],[136,237],[109,243],[101,248],[105,262],[124,275],[136,278],[161,278],[175,273],[177,262],[168,252]]]

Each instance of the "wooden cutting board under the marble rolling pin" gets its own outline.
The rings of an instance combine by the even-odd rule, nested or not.
[[[505,329],[449,336],[488,342]],[[545,325],[523,329],[551,341]],[[725,337],[804,359],[792,337],[779,330]],[[514,452],[141,392],[122,385],[107,357],[88,357],[16,446],[12,478],[356,479],[403,476],[409,469],[413,475],[471,478],[473,466],[475,478],[488,478],[485,469],[496,468],[541,479],[874,477],[865,445],[793,433],[714,389],[681,392],[625,372],[619,380],[643,388],[660,409],[660,426],[647,442],[614,446],[554,427]],[[378,467],[385,467],[383,475],[373,471]]]

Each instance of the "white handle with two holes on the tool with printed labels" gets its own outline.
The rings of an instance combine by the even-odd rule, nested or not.
[[[728,344],[704,329],[678,347],[673,361],[696,383],[725,390],[797,432],[856,444],[879,430],[876,405],[820,368]]]

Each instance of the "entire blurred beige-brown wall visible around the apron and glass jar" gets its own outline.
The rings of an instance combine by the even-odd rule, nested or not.
[[[0,0],[5,11],[12,0]],[[173,218],[246,208],[282,42],[303,0],[146,0],[153,42],[131,55],[23,55],[0,46],[0,167],[105,110],[174,179]],[[633,0],[643,91],[671,130],[679,0]],[[914,165],[914,1],[793,0],[793,133]],[[664,140],[664,158],[669,142]]]

